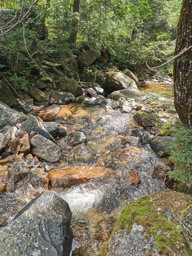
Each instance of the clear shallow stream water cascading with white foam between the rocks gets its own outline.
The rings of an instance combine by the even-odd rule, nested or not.
[[[71,208],[74,246],[79,251],[78,255],[95,256],[109,239],[126,204],[165,187],[163,181],[151,177],[153,166],[158,163],[157,155],[148,145],[126,139],[131,130],[138,127],[132,113],[124,114],[119,110],[107,113],[105,106],[90,99],[82,104],[73,104],[73,108],[71,116],[60,117],[62,126],[68,133],[83,132],[88,141],[73,147],[68,137],[60,141],[66,158],[55,168],[97,168],[99,173],[103,170],[104,173],[80,185],[55,191]],[[118,135],[119,132],[123,135]],[[113,171],[108,173],[108,170]],[[138,172],[141,180],[136,186],[130,184],[133,171]],[[10,221],[34,197],[33,192],[29,188],[27,194],[22,194],[22,191],[5,193],[0,197],[0,214]]]

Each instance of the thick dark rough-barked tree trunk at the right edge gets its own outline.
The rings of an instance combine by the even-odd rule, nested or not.
[[[175,55],[192,45],[192,0],[183,0],[177,27]],[[174,60],[175,109],[186,128],[192,128],[192,49]]]

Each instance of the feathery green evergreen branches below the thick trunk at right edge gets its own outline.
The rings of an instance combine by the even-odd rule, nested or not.
[[[174,129],[178,146],[172,147],[169,159],[175,164],[175,168],[167,174],[185,183],[192,179],[192,130],[185,130],[181,126],[175,126]]]

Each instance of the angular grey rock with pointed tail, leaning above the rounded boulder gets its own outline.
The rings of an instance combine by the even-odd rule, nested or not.
[[[21,123],[21,128],[24,129],[27,133],[39,133],[46,139],[56,143],[55,139],[51,136],[50,133],[48,133],[43,120],[38,116],[28,116],[28,119],[25,122]]]

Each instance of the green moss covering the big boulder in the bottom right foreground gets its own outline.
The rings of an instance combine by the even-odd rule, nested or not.
[[[118,230],[126,229],[126,233],[130,233],[133,223],[136,223],[145,228],[148,236],[154,236],[160,254],[166,256],[188,255],[183,239],[176,228],[179,223],[174,218],[168,220],[164,214],[168,211],[179,217],[189,205],[192,207],[191,204],[192,197],[190,195],[171,190],[156,192],[140,198],[136,203],[127,205],[122,210],[111,237]],[[97,256],[106,255],[108,242],[99,250]]]

